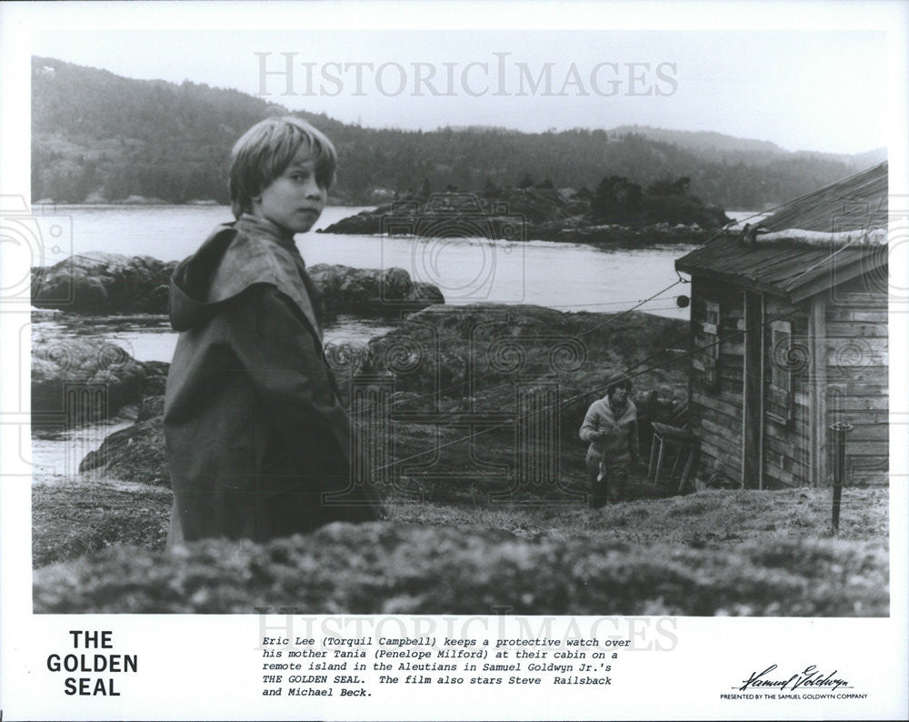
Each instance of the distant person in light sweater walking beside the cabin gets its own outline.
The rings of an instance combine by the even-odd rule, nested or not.
[[[590,443],[584,465],[590,473],[590,506],[598,509],[610,498],[625,496],[630,467],[637,463],[637,409],[628,398],[631,380],[624,378],[606,387],[606,396],[587,409],[581,425],[581,440]]]

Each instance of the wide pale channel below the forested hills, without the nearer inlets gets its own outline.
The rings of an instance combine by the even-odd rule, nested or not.
[[[361,210],[326,208],[315,228]],[[189,256],[215,225],[231,220],[226,206],[55,206],[45,212],[65,217],[75,254],[107,251],[165,261]],[[415,281],[439,286],[452,305],[536,304],[574,311],[634,306],[677,280],[674,260],[691,248],[616,250],[547,241],[316,233],[297,236],[297,244],[310,266],[402,267]],[[641,310],[675,318],[688,313],[674,305],[673,294]]]

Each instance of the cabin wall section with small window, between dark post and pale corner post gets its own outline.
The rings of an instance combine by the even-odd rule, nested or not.
[[[774,321],[787,323],[788,343],[776,336]],[[811,483],[811,340],[809,308],[764,295],[764,417],[762,447],[765,488],[806,486]],[[784,375],[789,383],[788,407],[774,398],[774,379]]]

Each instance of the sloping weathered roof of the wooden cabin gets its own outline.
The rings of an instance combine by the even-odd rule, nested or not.
[[[747,244],[744,234],[714,238],[675,261],[685,273],[800,301],[887,263],[887,246],[834,247],[799,242],[796,231],[886,227],[887,164],[797,198],[760,221],[765,231],[794,231],[793,239]]]

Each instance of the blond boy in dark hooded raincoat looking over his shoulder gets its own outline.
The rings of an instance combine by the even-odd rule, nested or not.
[[[335,147],[303,120],[254,125],[231,153],[235,223],[175,269],[168,546],[378,518],[373,490],[351,481],[350,422],[323,363],[318,292],[294,243],[322,213],[335,164]]]

